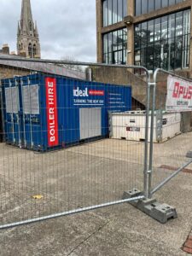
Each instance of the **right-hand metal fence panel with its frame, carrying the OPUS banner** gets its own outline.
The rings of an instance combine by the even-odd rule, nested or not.
[[[161,78],[158,76],[161,73]],[[162,73],[164,77],[162,78]],[[170,102],[170,98],[175,93],[174,84],[170,87],[170,76],[173,79],[180,79],[184,83],[189,84],[191,79],[185,79],[175,73],[170,73],[162,69],[154,72],[153,96],[152,96],[152,117],[151,121],[151,140],[150,140],[150,157],[148,189],[149,195],[152,196],[156,191],[161,189],[166,183],[171,181],[172,177],[176,177],[179,172],[190,172],[192,167],[191,158],[187,157],[188,151],[191,150],[191,112],[190,108],[186,112],[183,108],[187,100],[187,90],[179,89],[177,95],[177,108],[174,102],[169,103],[167,111],[166,104]],[[177,84],[176,84],[177,85]],[[186,95],[186,96],[185,96]],[[191,97],[191,93],[188,93]],[[183,104],[181,103],[183,102]],[[170,111],[171,109],[171,111]],[[174,111],[175,109],[175,111]],[[157,122],[155,116],[161,115],[160,122]],[[155,130],[160,129],[162,143],[153,143]],[[189,169],[186,169],[186,168]]]

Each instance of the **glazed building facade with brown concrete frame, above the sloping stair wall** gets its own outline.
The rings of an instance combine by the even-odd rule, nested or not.
[[[192,71],[191,6],[191,0],[96,0],[97,61]]]

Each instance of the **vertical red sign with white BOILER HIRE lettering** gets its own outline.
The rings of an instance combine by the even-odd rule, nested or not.
[[[58,113],[56,99],[56,79],[46,78],[46,108],[47,108],[47,128],[48,128],[48,145],[55,147],[58,145]]]

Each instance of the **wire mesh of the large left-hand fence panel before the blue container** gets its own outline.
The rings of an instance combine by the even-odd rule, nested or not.
[[[143,104],[129,80],[114,84],[106,70],[94,77],[82,66],[0,61],[1,225],[143,190]]]

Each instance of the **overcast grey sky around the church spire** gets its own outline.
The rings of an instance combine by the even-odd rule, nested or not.
[[[16,50],[21,0],[0,0],[0,47]],[[96,61],[95,0],[31,0],[33,20],[38,22],[42,58],[70,56]]]

